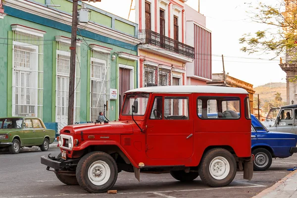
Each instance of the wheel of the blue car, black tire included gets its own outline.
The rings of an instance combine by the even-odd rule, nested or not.
[[[272,155],[266,148],[252,150],[254,154],[253,169],[255,171],[267,170],[272,164]]]

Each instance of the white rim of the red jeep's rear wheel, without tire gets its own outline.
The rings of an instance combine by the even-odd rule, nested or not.
[[[214,179],[225,179],[230,172],[230,164],[225,157],[215,157],[209,164],[209,172]]]

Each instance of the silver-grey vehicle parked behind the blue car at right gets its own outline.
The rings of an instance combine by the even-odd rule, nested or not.
[[[271,108],[262,123],[269,131],[297,134],[297,104]]]

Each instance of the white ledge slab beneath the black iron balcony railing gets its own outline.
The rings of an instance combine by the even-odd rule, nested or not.
[[[161,49],[161,48],[158,48],[156,46],[149,45],[149,44],[139,45],[138,49],[153,52],[153,53],[156,53],[156,54],[161,54],[163,56],[166,56],[168,58],[172,58],[174,60],[178,60],[178,61],[181,61],[181,62],[193,62],[194,61],[193,58],[190,58],[190,57],[187,57],[187,56],[184,56],[184,55],[172,52],[172,51],[164,50],[164,49]]]

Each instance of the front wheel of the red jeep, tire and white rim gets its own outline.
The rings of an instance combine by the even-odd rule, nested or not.
[[[83,156],[76,168],[79,185],[90,193],[104,193],[113,187],[118,169],[114,159],[105,152],[90,152]]]

